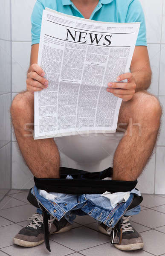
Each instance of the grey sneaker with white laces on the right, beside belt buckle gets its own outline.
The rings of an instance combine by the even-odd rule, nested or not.
[[[130,224],[131,216],[122,217],[122,239],[119,244],[114,244],[114,246],[119,250],[138,250],[142,249],[144,246],[142,236],[132,227]],[[104,223],[98,223],[98,230],[110,236],[112,228],[107,227]]]

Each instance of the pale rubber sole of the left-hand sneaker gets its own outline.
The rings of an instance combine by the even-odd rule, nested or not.
[[[67,227],[61,228],[61,230],[59,230],[58,232],[52,233],[52,235],[57,234],[57,233],[64,233],[64,232],[67,232],[71,229],[72,229],[72,225],[69,225]],[[17,245],[20,245],[20,246],[23,246],[23,247],[35,247],[35,246],[38,246],[39,244],[42,244],[43,242],[44,242],[44,239],[41,240],[41,241],[38,241],[38,242],[29,242],[29,241],[24,241],[24,240],[21,240],[21,239],[17,239],[15,237],[13,238],[13,243],[14,244],[17,244]]]

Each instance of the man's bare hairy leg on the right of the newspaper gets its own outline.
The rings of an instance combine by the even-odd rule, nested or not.
[[[146,91],[122,102],[118,130],[126,131],[114,154],[113,180],[133,181],[142,173],[156,143],[161,115],[158,99]]]

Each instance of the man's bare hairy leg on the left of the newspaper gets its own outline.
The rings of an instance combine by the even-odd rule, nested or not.
[[[15,96],[11,106],[12,123],[20,151],[32,174],[38,178],[59,178],[60,157],[54,139],[34,140],[34,93]],[[24,129],[28,125],[29,131]]]

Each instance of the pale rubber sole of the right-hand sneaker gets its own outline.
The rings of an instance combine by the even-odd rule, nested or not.
[[[106,230],[101,227],[100,225],[98,225],[98,230],[107,235],[107,236],[110,236],[107,234]],[[125,244],[125,245],[122,245],[122,244],[114,244],[114,246],[119,249],[119,250],[125,250],[125,251],[130,251],[130,250],[139,250],[139,249],[142,249],[144,247],[144,243],[138,243],[138,244]]]

